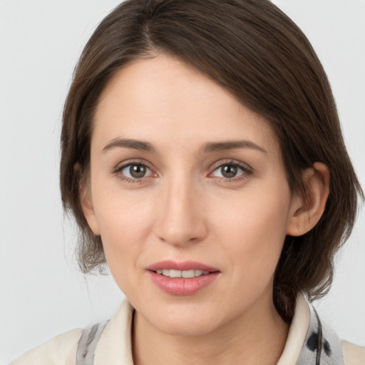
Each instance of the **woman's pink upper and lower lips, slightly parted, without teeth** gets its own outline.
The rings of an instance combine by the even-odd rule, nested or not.
[[[158,269],[174,269],[181,271],[195,269],[209,273],[201,275],[200,277],[173,278],[158,274],[156,272]],[[175,262],[171,260],[165,260],[150,265],[146,268],[146,270],[152,282],[159,289],[167,294],[175,296],[197,294],[197,292],[200,292],[200,290],[215,282],[215,279],[217,279],[218,275],[220,274],[220,271],[215,267],[210,267],[206,264],[195,261]]]

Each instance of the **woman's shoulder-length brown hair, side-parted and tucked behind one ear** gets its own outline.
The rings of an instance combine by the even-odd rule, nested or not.
[[[329,167],[324,215],[306,235],[286,238],[277,265],[274,302],[289,320],[297,292],[315,299],[329,289],[334,253],[354,225],[357,195],[364,195],[326,73],[302,31],[268,0],[127,0],[91,36],[76,66],[61,135],[61,195],[81,230],[81,269],[105,263],[101,237],[89,229],[79,197],[98,98],[126,63],[158,53],[180,58],[264,115],[293,193],[304,196],[304,169],[314,162]]]

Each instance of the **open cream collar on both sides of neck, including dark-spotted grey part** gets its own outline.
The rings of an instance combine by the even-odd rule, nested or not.
[[[131,330],[134,309],[127,299],[108,324],[101,324],[95,365],[133,365]],[[105,328],[103,328],[105,326]],[[100,331],[100,332],[101,332]],[[96,333],[96,329],[93,330]],[[277,365],[344,365],[341,341],[323,324],[299,293],[287,342]]]

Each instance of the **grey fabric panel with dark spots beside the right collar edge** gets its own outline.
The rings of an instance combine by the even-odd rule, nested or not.
[[[296,365],[344,365],[342,346],[336,333],[322,324],[309,305],[309,327]]]

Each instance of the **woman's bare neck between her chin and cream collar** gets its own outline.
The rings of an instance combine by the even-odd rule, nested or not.
[[[247,309],[239,318],[207,334],[166,334],[135,312],[135,365],[277,364],[288,325],[277,313],[272,297]]]

